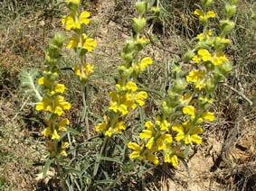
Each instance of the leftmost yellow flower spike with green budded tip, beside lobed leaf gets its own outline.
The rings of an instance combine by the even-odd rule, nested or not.
[[[43,77],[39,78],[38,84],[44,86],[45,96],[40,103],[35,106],[37,111],[44,111],[50,114],[49,119],[45,120],[47,127],[43,130],[45,137],[51,137],[52,141],[48,141],[48,150],[51,157],[54,158],[58,154],[67,156],[64,148],[68,146],[67,142],[60,142],[60,133],[66,132],[66,125],[69,125],[67,118],[58,119],[59,116],[65,114],[65,110],[71,109],[71,104],[64,101],[62,93],[67,89],[64,85],[58,83],[58,68],[56,64],[60,58],[60,50],[65,36],[62,33],[56,33],[52,41],[50,41],[49,50],[46,51],[46,68],[43,71]]]

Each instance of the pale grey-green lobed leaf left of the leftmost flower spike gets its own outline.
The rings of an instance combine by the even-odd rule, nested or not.
[[[20,87],[27,87],[27,89],[24,89],[24,95],[34,95],[36,101],[41,101],[43,99],[40,94],[41,86],[35,81],[38,76],[39,72],[37,69],[31,69],[29,72],[21,70],[19,79],[21,81]]]

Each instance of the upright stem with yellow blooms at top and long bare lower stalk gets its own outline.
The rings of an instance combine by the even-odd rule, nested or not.
[[[62,18],[62,23],[65,24],[67,30],[74,32],[73,36],[69,39],[66,47],[73,49],[81,60],[81,63],[77,67],[73,67],[73,71],[81,82],[81,94],[83,103],[83,116],[82,121],[86,123],[87,138],[90,139],[90,129],[88,121],[88,104],[85,90],[89,83],[89,77],[93,73],[93,65],[87,64],[86,55],[92,51],[97,45],[97,42],[93,39],[88,38],[87,34],[84,33],[84,26],[90,23],[90,13],[82,12],[79,14],[80,0],[67,0],[67,7],[71,14]]]

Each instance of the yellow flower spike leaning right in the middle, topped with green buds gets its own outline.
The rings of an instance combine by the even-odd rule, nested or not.
[[[145,36],[141,36],[146,18],[143,15],[147,12],[148,3],[146,0],[137,2],[138,18],[134,18],[133,30],[136,34],[130,37],[122,51],[124,64],[119,66],[119,80],[116,88],[109,92],[109,117],[104,116],[104,122],[96,126],[96,131],[102,131],[105,136],[112,136],[115,133],[121,133],[126,130],[127,126],[122,120],[130,110],[137,108],[137,105],[145,105],[147,92],[137,91],[136,78],[145,71],[148,65],[152,64],[152,59],[146,57],[138,58],[139,51],[144,49],[149,40]]]

